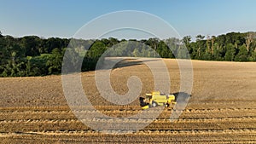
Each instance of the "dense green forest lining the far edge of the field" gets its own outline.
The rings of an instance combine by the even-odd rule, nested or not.
[[[198,35],[195,41],[191,39],[190,36],[164,40],[109,37],[73,41],[59,37],[11,37],[0,32],[0,77],[59,74],[66,50],[71,50],[74,58],[83,57],[82,71],[94,70],[97,60],[109,49],[112,49],[109,56],[154,57],[156,52],[162,58],[256,61],[256,32],[230,32],[218,37]],[[129,44],[130,49],[125,51]]]

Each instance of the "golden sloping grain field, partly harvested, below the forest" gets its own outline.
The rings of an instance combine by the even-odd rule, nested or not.
[[[179,92],[176,60],[165,60],[172,93]],[[169,120],[166,108],[145,129],[126,135],[105,134],[79,121],[67,106],[61,76],[0,78],[1,143],[255,143],[256,63],[192,60],[192,96],[182,115]],[[96,88],[95,72],[82,73],[84,92],[96,109],[108,116],[126,118],[141,112],[139,101],[116,106],[105,101]],[[137,76],[143,83],[140,96],[154,90],[148,66],[125,60],[111,72],[113,89],[124,95],[127,80]],[[157,109],[153,112],[156,112]],[[83,111],[94,114],[95,111]],[[150,114],[150,113],[149,113]],[[101,124],[108,119],[95,118]],[[127,119],[134,124],[147,119]],[[116,124],[109,121],[109,124]]]

